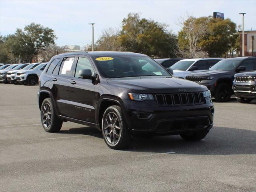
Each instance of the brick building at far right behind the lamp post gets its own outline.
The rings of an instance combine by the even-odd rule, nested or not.
[[[240,56],[242,56],[242,31],[239,31],[239,34]],[[244,56],[256,56],[256,30],[244,31]]]

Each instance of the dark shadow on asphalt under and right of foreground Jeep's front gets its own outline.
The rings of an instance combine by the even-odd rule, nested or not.
[[[256,131],[214,127],[200,141],[184,141],[180,136],[134,137],[127,151],[193,155],[256,154]]]

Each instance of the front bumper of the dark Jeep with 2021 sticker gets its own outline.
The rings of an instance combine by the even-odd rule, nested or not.
[[[191,106],[158,106],[155,100],[123,102],[132,134],[183,134],[213,126],[214,106],[210,98],[207,104]]]

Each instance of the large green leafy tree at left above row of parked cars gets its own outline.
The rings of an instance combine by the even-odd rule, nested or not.
[[[31,62],[32,58],[38,61],[38,52],[54,44],[56,35],[54,30],[40,24],[31,23],[24,30],[17,28],[13,35],[6,37],[6,48],[13,57],[24,62]]]

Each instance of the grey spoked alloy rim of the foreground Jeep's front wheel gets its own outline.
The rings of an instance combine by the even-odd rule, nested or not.
[[[114,112],[109,112],[104,120],[104,134],[111,144],[116,144],[121,136],[121,124]]]

